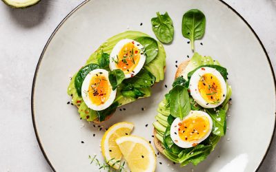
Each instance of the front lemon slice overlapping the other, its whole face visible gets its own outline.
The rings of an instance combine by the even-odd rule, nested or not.
[[[132,172],[151,172],[156,168],[155,151],[144,138],[123,136],[116,140]]]

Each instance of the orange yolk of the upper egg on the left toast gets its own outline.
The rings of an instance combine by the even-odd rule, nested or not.
[[[126,43],[117,55],[117,67],[125,74],[133,73],[140,60],[140,50],[134,42]]]

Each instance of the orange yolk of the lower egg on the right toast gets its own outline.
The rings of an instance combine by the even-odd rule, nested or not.
[[[179,138],[186,142],[196,142],[206,136],[210,122],[206,116],[193,115],[178,123]]]

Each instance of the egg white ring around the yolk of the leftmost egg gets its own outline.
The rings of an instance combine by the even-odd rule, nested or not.
[[[94,70],[92,70],[91,72],[88,73],[86,78],[83,80],[83,84],[81,86],[81,96],[83,98],[84,103],[86,103],[86,105],[90,109],[93,109],[95,111],[101,111],[103,109],[108,108],[113,103],[113,101],[115,100],[116,92],[117,92],[117,89],[112,90],[112,85],[110,84],[110,82],[108,80],[108,87],[110,88],[110,96],[109,96],[108,100],[106,100],[106,102],[101,104],[101,105],[95,105],[95,104],[92,103],[92,101],[90,100],[89,94],[88,94],[89,87],[91,87],[90,80],[96,74],[100,74],[100,72],[108,80],[108,71],[107,70],[105,70],[105,69],[94,69]]]

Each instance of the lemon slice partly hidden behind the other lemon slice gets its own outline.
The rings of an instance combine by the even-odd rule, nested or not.
[[[121,136],[130,135],[134,125],[130,122],[119,122],[112,125],[101,140],[101,153],[106,162],[115,169],[119,169],[121,160],[121,151],[115,140]]]

